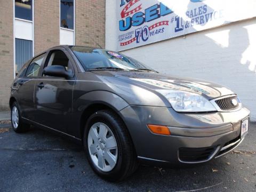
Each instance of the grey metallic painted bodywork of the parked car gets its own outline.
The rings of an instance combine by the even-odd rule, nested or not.
[[[82,140],[83,114],[94,104],[105,105],[123,119],[138,157],[147,162],[180,163],[180,147],[220,146],[237,138],[241,120],[250,111],[177,113],[157,89],[195,92],[208,100],[234,94],[221,85],[201,79],[181,79],[136,71],[84,71],[68,46],[63,50],[74,66],[73,78],[16,77],[11,100],[18,101],[24,121]],[[26,64],[28,65],[29,62]],[[22,82],[22,84],[19,84]],[[41,89],[37,85],[43,83]],[[147,124],[168,126],[171,135],[153,134]]]

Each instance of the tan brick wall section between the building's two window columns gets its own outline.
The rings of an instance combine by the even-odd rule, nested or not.
[[[37,54],[60,44],[60,0],[35,1],[34,9]]]

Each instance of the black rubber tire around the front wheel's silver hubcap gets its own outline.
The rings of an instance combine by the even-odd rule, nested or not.
[[[94,163],[91,159],[91,156],[90,156],[88,145],[87,145],[87,136],[89,134],[89,130],[94,123],[98,123],[98,122],[104,123],[109,127],[109,129],[113,132],[114,137],[117,142],[117,150],[118,150],[117,163],[116,163],[114,169],[109,172],[103,172],[97,166],[94,165]],[[115,181],[118,178],[121,178],[122,173],[124,172],[124,169],[125,169],[125,167],[124,167],[125,166],[124,143],[122,142],[122,140],[123,140],[122,134],[119,133],[120,129],[123,129],[122,126],[123,125],[120,125],[117,121],[115,121],[114,118],[111,118],[111,116],[108,115],[106,113],[106,111],[98,111],[97,113],[94,113],[88,119],[88,121],[85,125],[83,145],[84,145],[84,149],[86,152],[86,157],[87,157],[93,171],[96,172],[98,175],[100,175],[102,178],[110,180],[110,181]]]

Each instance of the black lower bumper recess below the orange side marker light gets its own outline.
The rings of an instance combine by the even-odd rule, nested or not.
[[[202,162],[211,158],[217,147],[180,148],[179,159],[182,162]]]

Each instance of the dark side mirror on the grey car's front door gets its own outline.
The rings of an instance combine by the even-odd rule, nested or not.
[[[43,70],[43,75],[53,76],[53,77],[71,77],[72,74],[65,69],[65,67],[60,65],[53,65],[45,67]]]

